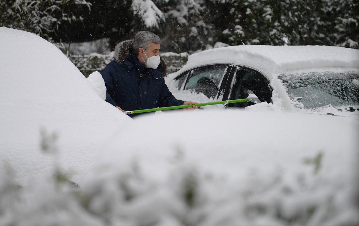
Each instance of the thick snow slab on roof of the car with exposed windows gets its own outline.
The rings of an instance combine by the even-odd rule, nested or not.
[[[220,63],[245,65],[277,76],[298,69],[359,68],[359,50],[334,46],[220,47],[190,55],[178,73],[196,66]]]

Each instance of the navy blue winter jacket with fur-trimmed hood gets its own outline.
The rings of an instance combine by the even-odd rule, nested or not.
[[[167,67],[146,68],[132,53],[132,40],[115,47],[115,60],[100,71],[106,85],[106,101],[124,111],[183,105],[164,83]],[[139,114],[130,114],[130,117]]]

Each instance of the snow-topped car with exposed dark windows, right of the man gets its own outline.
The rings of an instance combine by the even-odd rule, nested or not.
[[[172,89],[203,93],[210,101],[250,96],[255,103],[272,103],[287,111],[335,115],[359,109],[359,50],[344,47],[221,47],[190,55],[166,82],[171,79],[176,81]],[[198,101],[196,96],[191,99]]]

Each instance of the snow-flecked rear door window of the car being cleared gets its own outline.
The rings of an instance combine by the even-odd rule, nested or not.
[[[185,89],[204,93],[209,98],[215,98],[227,68],[228,65],[208,65],[193,69]]]

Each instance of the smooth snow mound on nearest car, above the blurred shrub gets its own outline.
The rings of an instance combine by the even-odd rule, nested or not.
[[[358,152],[357,129],[358,122],[332,116],[180,110],[138,117],[125,132],[111,138],[113,142],[105,148],[107,153],[100,155],[105,162],[113,162],[120,168],[133,161],[143,162],[145,173],[165,179],[167,167],[172,165],[169,160],[176,156],[176,151],[183,152],[183,158],[188,157],[200,169],[221,172],[228,178],[247,175],[245,171],[230,174],[236,167],[283,166],[297,171],[303,166],[304,157],[323,152],[328,161],[328,169],[324,171],[337,174],[349,170],[345,169],[348,164],[339,162],[351,162],[350,156]]]

